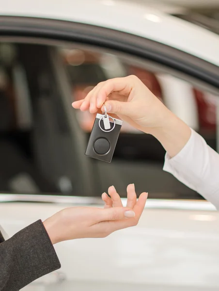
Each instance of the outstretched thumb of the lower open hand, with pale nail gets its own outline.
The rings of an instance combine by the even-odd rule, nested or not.
[[[114,207],[102,209],[101,221],[120,220],[125,218],[133,218],[135,212],[127,207]]]

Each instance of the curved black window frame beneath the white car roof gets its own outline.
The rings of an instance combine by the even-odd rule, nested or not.
[[[42,43],[44,40],[54,43],[62,41],[111,49],[153,62],[164,68],[168,67],[169,70],[178,71],[194,82],[200,81],[202,85],[206,84],[214,93],[219,92],[217,65],[167,45],[125,32],[63,20],[0,16],[0,38],[14,39],[18,42],[26,42],[30,38],[33,42],[35,39],[35,41],[41,40]]]

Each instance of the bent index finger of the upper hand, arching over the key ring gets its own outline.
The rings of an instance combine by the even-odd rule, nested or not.
[[[96,105],[100,108],[106,101],[109,94],[115,91],[123,91],[124,94],[129,95],[132,86],[129,77],[114,78],[102,83],[100,90],[98,91]]]

